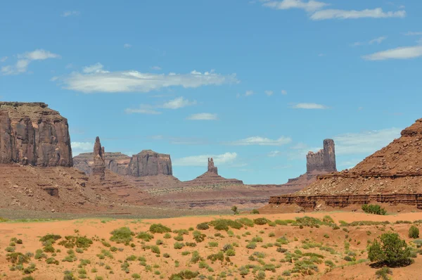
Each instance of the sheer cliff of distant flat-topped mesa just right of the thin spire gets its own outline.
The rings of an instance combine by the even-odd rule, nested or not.
[[[143,150],[137,155],[132,155],[127,174],[134,177],[172,175],[172,160],[170,155]]]

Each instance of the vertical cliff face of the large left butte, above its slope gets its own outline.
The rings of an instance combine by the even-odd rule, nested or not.
[[[0,163],[71,167],[68,120],[46,103],[0,102]]]

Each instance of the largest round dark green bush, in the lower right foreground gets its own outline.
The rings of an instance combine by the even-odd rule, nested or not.
[[[412,262],[411,249],[406,241],[399,238],[398,234],[382,234],[379,239],[380,242],[376,239],[368,248],[368,257],[371,262],[385,264],[388,267],[409,265]]]

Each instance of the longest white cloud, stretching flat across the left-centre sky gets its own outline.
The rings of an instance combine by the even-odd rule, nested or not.
[[[167,87],[196,88],[207,85],[238,83],[236,74],[221,75],[213,71],[201,73],[195,70],[188,74],[170,72],[168,75],[141,73],[134,70],[120,72],[103,70],[88,73],[72,72],[61,80],[64,84],[63,88],[84,93],[148,92]]]

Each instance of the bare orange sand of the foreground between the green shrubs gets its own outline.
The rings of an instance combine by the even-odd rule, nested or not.
[[[210,222],[214,219],[238,219],[239,217],[248,217],[250,219],[256,219],[257,217],[265,217],[274,221],[276,219],[295,219],[295,217],[317,217],[322,219],[324,215],[330,215],[335,223],[340,220],[345,222],[354,221],[389,221],[396,222],[399,220],[414,221],[421,219],[420,213],[403,213],[399,215],[368,215],[359,212],[318,212],[318,213],[290,213],[290,214],[268,214],[268,215],[231,215],[231,216],[198,216],[198,217],[177,217],[169,219],[75,219],[65,220],[56,222],[1,222],[0,223],[0,279],[23,279],[25,275],[20,271],[11,271],[11,262],[6,260],[6,248],[11,242],[11,238],[22,239],[22,244],[15,245],[15,252],[35,253],[37,249],[42,249],[43,246],[39,238],[45,234],[58,234],[62,236],[53,247],[57,250],[60,249],[60,253],[56,253],[55,259],[59,261],[58,265],[47,265],[46,259],[41,258],[40,260],[34,260],[34,257],[30,262],[34,262],[36,270],[31,274],[34,279],[63,279],[65,270],[70,270],[77,279],[79,272],[78,267],[80,259],[90,260],[90,264],[86,265],[84,269],[87,272],[89,279],[96,279],[96,276],[102,276],[103,279],[134,279],[133,274],[139,274],[140,279],[169,279],[171,274],[177,274],[184,269],[189,269],[193,272],[199,272],[201,275],[206,277],[214,277],[209,279],[242,279],[239,272],[240,268],[245,265],[257,265],[263,266],[264,264],[272,264],[275,266],[275,272],[270,270],[265,271],[264,279],[278,279],[277,277],[283,277],[279,279],[376,279],[376,269],[369,267],[368,262],[360,263],[358,265],[350,265],[347,261],[343,260],[345,257],[345,241],[350,243],[350,250],[356,253],[356,259],[366,259],[366,244],[367,241],[372,241],[376,236],[383,234],[384,232],[391,231],[392,229],[399,234],[401,238],[404,238],[409,243],[407,232],[410,224],[388,224],[386,227],[383,226],[360,226],[360,227],[346,227],[347,231],[343,231],[343,228],[334,230],[332,227],[321,226],[319,228],[283,226],[276,225],[270,227],[268,224],[255,225],[254,227],[248,227],[245,229],[230,229],[233,231],[233,236],[229,236],[226,231],[217,231],[210,227],[210,229],[202,230],[201,232],[206,235],[205,241],[197,243],[196,247],[185,246],[180,250],[174,249],[174,236],[177,234],[170,233],[171,238],[164,238],[164,234],[153,234],[153,239],[148,242],[143,242],[141,239],[134,236],[132,243],[134,248],[131,246],[124,246],[124,244],[117,244],[110,241],[110,232],[120,227],[129,227],[136,234],[139,231],[148,231],[151,224],[161,223],[170,229],[188,229],[193,227],[196,230],[196,225],[201,222]],[[249,232],[250,235],[245,233]],[[221,233],[222,236],[215,236],[216,233]],[[274,236],[270,233],[274,233]],[[93,244],[85,250],[83,253],[75,253],[77,260],[75,262],[63,262],[62,260],[68,255],[67,248],[58,245],[58,242],[64,239],[64,236],[87,236],[93,238]],[[184,235],[184,241],[179,242],[195,242],[193,240],[192,231],[188,231],[188,235]],[[248,249],[246,245],[249,241],[255,237],[260,236],[263,242],[257,242],[255,249]],[[317,264],[318,272],[314,272],[313,275],[303,275],[300,273],[291,274],[290,276],[281,276],[284,271],[292,269],[294,263],[283,262],[286,259],[286,253],[279,253],[276,251],[276,246],[265,246],[264,244],[276,243],[276,239],[286,236],[289,243],[283,244],[281,248],[286,248],[287,253],[294,253],[295,250],[301,250],[302,253],[317,253],[324,256],[321,264]],[[347,236],[347,237],[346,237]],[[101,259],[98,255],[101,255],[103,249],[109,250],[110,248],[103,245],[101,239],[106,240],[111,246],[117,248],[123,248],[122,251],[117,250],[115,253],[110,255],[113,258],[105,257]],[[146,245],[153,246],[158,240],[163,241],[163,244],[159,245],[160,255],[156,255],[151,252],[151,249],[145,248]],[[322,243],[323,246],[333,249],[334,253],[329,253],[326,250],[320,248],[302,248],[303,243],[313,241],[316,243]],[[210,242],[217,242],[217,247],[210,246]],[[223,246],[228,243],[238,243],[238,247],[235,246],[234,250],[236,255],[230,256],[230,262],[220,262],[207,260],[207,256],[218,253],[222,250]],[[75,250],[75,248],[73,249]],[[192,252],[197,250],[199,255],[205,259],[207,267],[211,269],[200,268],[198,263],[192,263],[191,257]],[[190,252],[188,255],[187,253]],[[250,255],[255,252],[264,253],[264,257],[257,260],[250,260]],[[167,253],[170,257],[164,257]],[[52,253],[46,253],[47,257],[51,257]],[[130,255],[136,257],[145,257],[146,264],[143,265],[139,260],[129,261],[129,273],[124,272],[121,268],[124,260]],[[224,256],[225,257],[225,256]],[[299,257],[298,260],[303,260],[306,257]],[[421,279],[422,278],[422,256],[418,255],[415,259],[415,263],[408,267],[394,268],[392,269],[392,279]],[[331,260],[335,265],[332,270],[329,269],[329,265],[324,262]],[[178,262],[178,265],[177,265]],[[146,266],[145,266],[146,265]],[[24,267],[27,267],[25,264]],[[149,267],[151,266],[151,267]],[[254,279],[254,276],[258,272],[252,272],[253,269],[249,269],[248,274],[244,276],[244,279]],[[326,270],[331,270],[326,272]],[[113,271],[113,274],[110,274]],[[224,277],[226,275],[226,277]],[[294,276],[294,277],[293,277]],[[219,278],[220,277],[220,278]],[[271,278],[272,277],[272,278]],[[293,277],[293,278],[292,278]],[[200,279],[200,278],[198,278]]]

